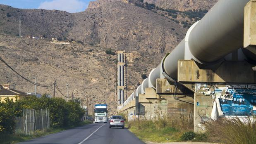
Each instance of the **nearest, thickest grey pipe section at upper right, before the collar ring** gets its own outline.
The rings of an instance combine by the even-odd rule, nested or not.
[[[189,50],[213,62],[243,47],[244,6],[250,0],[219,0],[189,34]]]

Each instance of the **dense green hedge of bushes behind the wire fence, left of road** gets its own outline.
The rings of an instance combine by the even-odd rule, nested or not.
[[[84,109],[78,103],[66,102],[61,98],[43,95],[41,98],[33,96],[16,102],[5,99],[5,102],[0,102],[0,134],[14,133],[15,116],[22,116],[23,109],[49,109],[52,128],[79,125],[84,115]]]

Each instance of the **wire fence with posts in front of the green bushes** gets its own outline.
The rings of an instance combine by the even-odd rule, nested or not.
[[[22,117],[15,117],[15,133],[35,135],[50,128],[49,109],[24,109]]]

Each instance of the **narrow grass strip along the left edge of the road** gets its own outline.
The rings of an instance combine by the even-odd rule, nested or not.
[[[87,125],[92,123],[89,120],[84,120],[83,122],[79,123],[77,126],[81,126],[81,125]],[[63,128],[50,128],[47,130],[47,132],[41,132],[41,131],[37,131],[35,135],[12,135],[12,134],[1,134],[0,135],[0,144],[16,144],[18,142],[24,142],[26,140],[29,139],[34,139],[37,137],[42,137],[44,135],[50,135],[56,132],[60,132],[63,130],[68,130],[71,129],[75,126],[72,127],[63,127]]]

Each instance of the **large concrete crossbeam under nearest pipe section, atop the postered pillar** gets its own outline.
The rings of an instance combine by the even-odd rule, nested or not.
[[[212,70],[199,68],[194,60],[179,60],[178,82],[256,83],[256,77],[247,61],[224,61]]]

